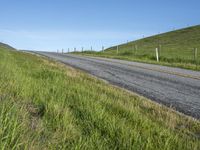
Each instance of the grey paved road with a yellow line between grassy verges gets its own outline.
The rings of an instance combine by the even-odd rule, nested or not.
[[[106,58],[38,53],[200,119],[200,72]]]

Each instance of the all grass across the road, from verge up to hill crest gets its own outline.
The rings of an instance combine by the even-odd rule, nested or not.
[[[156,62],[156,48],[159,49],[159,63]],[[200,25],[119,45],[118,53],[117,46],[113,46],[104,52],[81,54],[200,70]]]

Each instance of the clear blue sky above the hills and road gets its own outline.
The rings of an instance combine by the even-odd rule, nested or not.
[[[100,49],[200,23],[200,0],[0,0],[0,41]]]

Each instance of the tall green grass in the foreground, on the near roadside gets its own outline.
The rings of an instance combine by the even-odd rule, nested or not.
[[[0,46],[0,149],[200,149],[200,122]]]

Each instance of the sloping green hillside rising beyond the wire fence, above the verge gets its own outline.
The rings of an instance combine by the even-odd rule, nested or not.
[[[183,51],[190,48],[200,48],[200,25],[181,30],[171,31],[144,39],[136,40],[128,44],[120,45],[120,49],[133,50],[137,45],[138,50],[152,50],[156,47],[174,51]],[[108,50],[116,49],[116,47]]]

